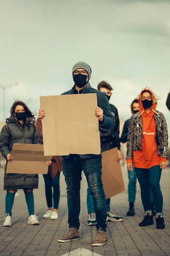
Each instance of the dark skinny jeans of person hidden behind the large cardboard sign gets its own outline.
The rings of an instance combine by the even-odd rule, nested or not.
[[[58,209],[59,207],[59,197],[60,197],[60,190],[59,190],[59,176],[60,172],[57,172],[56,177],[53,179],[51,175],[43,174],[44,182],[45,182],[45,197],[47,201],[47,206],[52,207],[54,202],[54,209]],[[52,202],[52,187],[53,187],[53,202]]]

